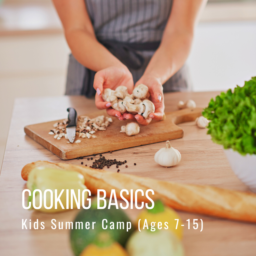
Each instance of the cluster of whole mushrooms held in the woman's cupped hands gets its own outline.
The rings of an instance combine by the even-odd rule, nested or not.
[[[150,96],[148,86],[139,84],[132,94],[129,94],[125,86],[118,86],[116,90],[106,88],[102,93],[102,99],[111,103],[111,107],[120,111],[121,114],[129,112],[131,114],[142,115],[148,119],[151,113],[155,112],[155,106],[148,100]]]

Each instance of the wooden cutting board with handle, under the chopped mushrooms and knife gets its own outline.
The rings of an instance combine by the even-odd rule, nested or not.
[[[53,124],[62,121],[64,118],[47,123],[28,125],[25,126],[24,131],[30,138],[61,159],[66,160],[79,156],[90,156],[123,148],[182,138],[183,130],[177,124],[194,121],[196,117],[201,116],[202,110],[202,108],[186,108],[165,113],[166,117],[164,120],[158,122],[153,120],[147,126],[140,125],[140,133],[130,137],[125,133],[120,133],[120,130],[122,125],[131,122],[131,120],[119,121],[113,118],[113,123],[107,127],[106,131],[95,133],[97,138],[79,138],[81,140],[80,143],[67,143],[68,140],[64,137],[56,140],[53,138],[53,135],[48,134],[53,129]],[[107,116],[104,110],[89,114],[88,116],[93,118],[99,115]],[[76,135],[75,141],[77,139],[78,135]]]

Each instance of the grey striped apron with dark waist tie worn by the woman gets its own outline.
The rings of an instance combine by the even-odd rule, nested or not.
[[[129,68],[135,84],[161,41],[172,0],[85,0],[85,4],[97,39]],[[94,75],[70,54],[66,95],[95,95]],[[163,88],[164,92],[190,90],[187,66]]]

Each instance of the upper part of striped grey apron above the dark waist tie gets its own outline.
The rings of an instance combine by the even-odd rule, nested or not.
[[[172,0],[85,0],[96,37],[118,42],[160,41]]]

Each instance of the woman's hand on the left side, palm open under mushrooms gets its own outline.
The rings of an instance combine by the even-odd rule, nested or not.
[[[109,67],[98,71],[94,76],[93,87],[96,90],[95,105],[98,109],[107,109],[109,116],[116,116],[119,120],[124,120],[118,110],[111,108],[111,103],[102,99],[102,92],[106,88],[115,90],[116,87],[123,85],[132,94],[133,78],[129,69],[125,66]]]

